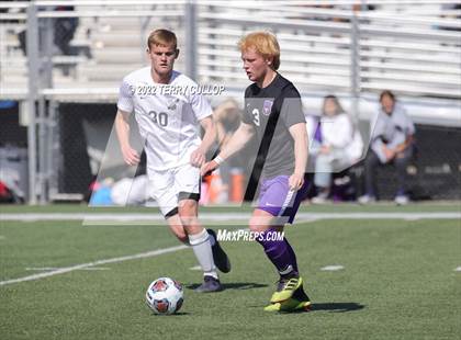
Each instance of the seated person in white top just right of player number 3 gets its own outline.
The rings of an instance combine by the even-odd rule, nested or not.
[[[325,97],[322,111],[323,117],[311,148],[316,158],[314,184],[318,190],[312,203],[326,202],[330,194],[331,173],[352,166],[363,149],[358,128],[335,95]]]

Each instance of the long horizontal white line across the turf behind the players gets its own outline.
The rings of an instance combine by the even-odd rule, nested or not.
[[[218,222],[222,225],[240,225],[250,217],[250,213],[201,213],[203,223]],[[299,213],[295,222],[314,222],[319,219],[460,219],[461,212],[435,212],[435,213]],[[83,225],[165,225],[165,218],[160,214],[135,214],[135,213],[33,213],[33,214],[0,214],[0,222],[18,220],[82,220]]]

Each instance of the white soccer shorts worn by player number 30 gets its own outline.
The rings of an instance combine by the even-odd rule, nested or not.
[[[162,171],[148,171],[150,196],[165,217],[172,216],[178,211],[181,200],[200,199],[200,168],[184,165]]]

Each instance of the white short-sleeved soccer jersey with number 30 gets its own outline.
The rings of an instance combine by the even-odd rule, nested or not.
[[[168,84],[156,83],[150,67],[123,79],[117,107],[135,113],[145,140],[147,170],[189,163],[190,155],[201,143],[198,122],[213,113],[206,99],[196,93],[198,89],[192,79],[177,71]]]

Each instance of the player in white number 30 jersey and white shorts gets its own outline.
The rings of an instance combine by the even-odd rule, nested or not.
[[[192,247],[203,270],[204,283],[195,291],[217,292],[222,285],[216,267],[228,272],[231,263],[215,233],[198,219],[200,167],[216,136],[212,109],[196,94],[196,83],[173,70],[179,55],[173,32],[151,32],[147,55],[150,66],[127,75],[120,89],[115,129],[123,158],[130,166],[139,162],[130,145],[128,120],[134,112],[145,140],[151,195],[176,237]]]

